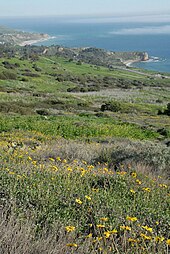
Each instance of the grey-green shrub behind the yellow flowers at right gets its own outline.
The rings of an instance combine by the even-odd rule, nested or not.
[[[112,167],[122,164],[142,164],[150,167],[157,174],[169,174],[170,148],[163,144],[150,142],[115,142],[115,145],[104,147],[96,162],[106,162]]]

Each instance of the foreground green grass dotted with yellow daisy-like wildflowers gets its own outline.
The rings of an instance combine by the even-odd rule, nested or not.
[[[161,176],[130,165],[115,171],[107,163],[68,161],[57,150],[55,157],[40,155],[41,147],[9,147],[0,171],[3,206],[24,233],[31,223],[34,244],[47,232],[47,241],[57,235],[61,253],[168,253],[169,187]]]

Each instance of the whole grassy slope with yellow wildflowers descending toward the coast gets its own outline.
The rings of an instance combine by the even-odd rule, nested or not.
[[[169,81],[62,58],[40,58],[38,72],[4,60],[20,66],[10,70],[16,80],[0,81],[2,253],[168,253],[170,119],[157,110],[169,102]],[[25,69],[40,76],[21,81]],[[56,73],[147,86],[68,93],[78,84]],[[100,111],[110,100],[119,112]]]

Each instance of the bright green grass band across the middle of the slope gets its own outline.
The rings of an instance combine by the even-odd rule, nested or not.
[[[62,136],[66,139],[122,137],[138,140],[159,137],[154,131],[142,130],[134,124],[122,123],[97,117],[1,117],[0,131],[33,130],[50,136]]]

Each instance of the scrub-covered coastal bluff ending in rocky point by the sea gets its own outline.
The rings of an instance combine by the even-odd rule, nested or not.
[[[147,61],[149,59],[147,52],[117,52],[95,47],[67,48],[57,45],[46,47],[44,54],[47,56],[63,56],[69,58],[70,61],[77,61],[79,64],[84,62],[109,68],[125,66],[129,63]]]

